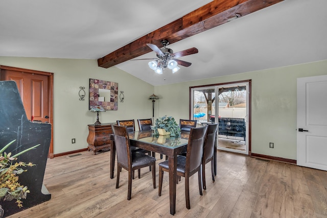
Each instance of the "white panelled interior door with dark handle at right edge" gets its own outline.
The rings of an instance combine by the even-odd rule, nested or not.
[[[297,79],[297,165],[327,171],[327,75]]]

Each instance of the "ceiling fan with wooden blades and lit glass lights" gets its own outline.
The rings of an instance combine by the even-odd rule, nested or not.
[[[193,55],[199,52],[196,47],[191,47],[191,49],[186,49],[174,53],[172,49],[166,47],[169,44],[168,40],[162,40],[161,44],[164,47],[161,47],[161,49],[159,49],[156,45],[147,43],[150,49],[152,49],[157,54],[157,58],[145,58],[135,60],[153,60],[149,62],[149,67],[153,69],[157,74],[162,74],[162,71],[167,67],[171,69],[174,74],[175,72],[177,72],[177,70],[180,69],[178,67],[178,64],[185,67],[191,66],[192,64],[190,62],[178,60],[176,58],[183,57],[186,55]]]

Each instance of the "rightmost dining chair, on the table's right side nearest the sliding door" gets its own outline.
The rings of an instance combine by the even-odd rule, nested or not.
[[[205,190],[205,164],[211,162],[211,175],[213,182],[215,182],[215,172],[214,172],[214,151],[216,149],[216,139],[217,139],[218,123],[209,124],[206,132],[206,137],[204,139],[203,145],[203,155],[202,155],[202,187]]]

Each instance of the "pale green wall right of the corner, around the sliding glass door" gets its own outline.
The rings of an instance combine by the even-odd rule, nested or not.
[[[178,71],[183,73],[183,71]],[[327,74],[327,60],[155,86],[158,115],[189,118],[189,87],[252,80],[252,153],[296,159],[296,78]],[[175,107],[178,105],[178,107]],[[269,148],[274,142],[274,149]]]

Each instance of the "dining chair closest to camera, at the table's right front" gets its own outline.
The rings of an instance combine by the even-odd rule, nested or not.
[[[187,154],[185,156],[177,156],[177,175],[185,177],[185,200],[186,208],[190,209],[190,177],[198,173],[199,192],[202,196],[202,179],[201,179],[201,160],[203,152],[204,138],[207,126],[192,128],[188,142]],[[164,171],[169,172],[169,161],[165,160],[159,163],[159,193],[161,196],[162,181]]]

